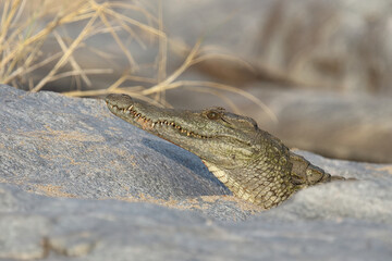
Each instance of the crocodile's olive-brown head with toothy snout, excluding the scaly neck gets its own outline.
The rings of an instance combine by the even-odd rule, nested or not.
[[[222,108],[162,109],[126,95],[109,95],[106,102],[117,116],[220,167],[238,167],[258,154],[256,122]]]

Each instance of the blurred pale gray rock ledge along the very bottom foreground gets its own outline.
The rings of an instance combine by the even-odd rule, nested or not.
[[[49,198],[10,185],[0,188],[17,198],[11,208],[22,209],[7,213],[1,206],[0,226],[8,227],[1,237],[8,245],[0,257],[14,260],[388,260],[392,253],[391,220],[311,215],[318,210],[293,219],[285,204],[283,211],[279,207],[246,222],[221,223],[150,203]],[[297,212],[311,211],[302,207]],[[19,247],[17,254],[9,254],[8,246],[21,241],[29,249]]]

